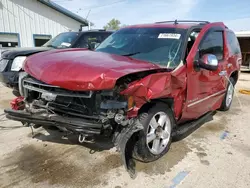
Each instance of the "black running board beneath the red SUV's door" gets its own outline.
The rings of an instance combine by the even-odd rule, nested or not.
[[[194,120],[194,121],[182,124],[182,125],[177,125],[172,133],[173,141],[179,141],[187,137],[189,134],[191,134],[196,129],[201,127],[204,123],[213,120],[214,114],[215,112],[213,111],[208,112],[197,120]]]

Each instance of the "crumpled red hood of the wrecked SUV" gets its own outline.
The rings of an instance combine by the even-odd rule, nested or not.
[[[28,57],[24,70],[34,78],[61,88],[112,89],[127,74],[159,69],[145,61],[86,49],[51,50]]]

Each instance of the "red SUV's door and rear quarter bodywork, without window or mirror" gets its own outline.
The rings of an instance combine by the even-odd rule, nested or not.
[[[195,71],[193,62],[198,51],[198,46],[203,39],[204,35],[208,32],[208,30],[212,27],[221,27],[223,28],[223,37],[224,37],[224,59],[219,62],[219,67],[216,71],[209,71],[205,69],[201,69],[200,71]],[[209,97],[213,94],[219,93],[221,91],[226,91],[228,81],[224,76],[220,76],[219,73],[221,71],[227,71],[227,77],[234,71],[239,71],[240,67],[237,64],[237,58],[233,57],[228,50],[228,43],[226,42],[226,33],[225,26],[223,23],[211,23],[206,25],[200,32],[197,37],[192,50],[190,51],[187,57],[187,103],[184,106],[184,110],[182,112],[182,120],[191,120],[200,117],[208,111],[217,110],[223,100],[225,93],[220,93],[214,97]],[[232,63],[232,67],[228,68],[228,63]],[[207,100],[204,100],[196,105],[189,106],[194,101],[199,101],[209,97]]]

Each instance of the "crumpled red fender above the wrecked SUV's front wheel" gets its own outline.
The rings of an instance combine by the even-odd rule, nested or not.
[[[128,117],[136,117],[139,109],[152,99],[172,98],[175,101],[174,114],[181,116],[185,99],[186,67],[182,66],[173,72],[150,74],[139,81],[134,81],[121,92],[122,95],[133,96],[135,106],[128,111]]]

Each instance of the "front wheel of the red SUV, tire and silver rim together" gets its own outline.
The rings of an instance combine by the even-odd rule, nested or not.
[[[162,126],[157,123],[160,117],[163,120],[161,122],[165,122],[161,123]],[[148,112],[140,114],[139,118],[144,129],[139,132],[135,141],[133,157],[142,162],[152,162],[166,154],[170,148],[172,130],[175,124],[174,116],[167,105],[158,103],[151,107]],[[150,125],[150,122],[153,126]],[[158,147],[156,147],[157,144]],[[158,150],[155,148],[158,148]]]

